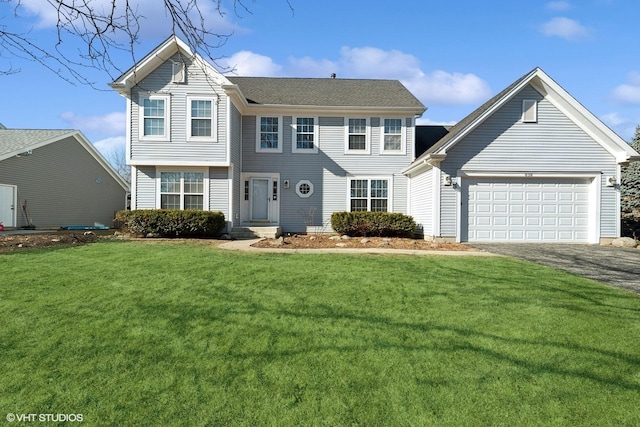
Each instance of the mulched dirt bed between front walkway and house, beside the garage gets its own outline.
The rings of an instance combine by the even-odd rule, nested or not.
[[[424,239],[387,237],[341,237],[327,235],[293,235],[279,239],[265,239],[252,245],[256,248],[283,249],[405,249],[421,251],[476,251],[460,243],[437,243]]]

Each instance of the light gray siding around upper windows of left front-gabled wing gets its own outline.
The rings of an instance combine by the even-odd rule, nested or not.
[[[179,61],[176,55],[171,58]],[[131,159],[147,164],[162,162],[226,162],[227,158],[227,111],[226,95],[222,89],[205,76],[199,66],[187,64],[186,84],[171,83],[172,65],[166,61],[142,80],[131,91]],[[139,139],[140,94],[170,93],[170,141]],[[216,142],[187,141],[188,95],[218,96]]]

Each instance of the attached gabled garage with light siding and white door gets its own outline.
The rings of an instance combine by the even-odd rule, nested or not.
[[[420,141],[426,151],[403,170],[426,239],[606,244],[620,236],[621,167],[640,154],[541,69],[445,132]]]

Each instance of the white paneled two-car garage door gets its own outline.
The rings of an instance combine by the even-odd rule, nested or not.
[[[468,180],[468,240],[586,243],[590,182],[558,178]]]

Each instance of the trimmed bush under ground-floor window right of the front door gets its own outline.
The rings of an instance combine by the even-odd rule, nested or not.
[[[413,217],[392,212],[334,212],[331,228],[347,236],[411,237],[416,229]]]

